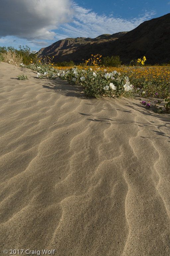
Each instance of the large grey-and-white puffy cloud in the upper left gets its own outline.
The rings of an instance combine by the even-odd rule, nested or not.
[[[1,0],[0,37],[51,40],[73,13],[70,0]]]

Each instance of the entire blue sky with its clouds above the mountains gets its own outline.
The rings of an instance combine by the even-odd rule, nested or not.
[[[38,51],[67,37],[130,31],[170,13],[170,0],[0,0],[0,46]]]

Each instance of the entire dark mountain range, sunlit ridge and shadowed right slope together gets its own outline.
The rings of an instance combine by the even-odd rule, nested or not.
[[[144,21],[129,32],[104,34],[96,38],[66,38],[40,49],[38,56],[54,56],[53,62],[73,60],[82,63],[91,54],[119,55],[122,64],[146,57],[146,63],[167,63],[170,60],[170,13]]]

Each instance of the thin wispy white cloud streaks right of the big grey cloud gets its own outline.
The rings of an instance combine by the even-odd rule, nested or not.
[[[145,20],[156,14],[155,11],[145,11],[142,16],[133,19],[114,18],[113,15],[97,15],[95,12],[74,5],[74,21],[60,26],[67,37],[97,37],[101,34],[114,34],[130,31]]]

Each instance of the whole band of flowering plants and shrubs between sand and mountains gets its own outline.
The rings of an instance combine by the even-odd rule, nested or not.
[[[146,58],[131,61],[129,66],[121,66],[119,56],[105,57],[91,55],[82,65],[75,66],[72,61],[54,63],[53,57],[43,60],[30,53],[28,46],[16,50],[12,47],[0,47],[0,60],[20,67],[37,71],[37,78],[55,79],[59,77],[70,84],[84,87],[86,96],[99,97],[131,97],[139,94],[164,100],[164,108],[159,107],[161,100],[155,101],[155,112],[170,111],[170,65],[144,66]],[[22,62],[22,63],[21,63]],[[132,65],[134,64],[135,65]],[[61,66],[62,65],[62,66]],[[22,79],[22,76],[20,76]],[[23,77],[23,79],[26,79]],[[149,103],[142,102],[145,107]]]

